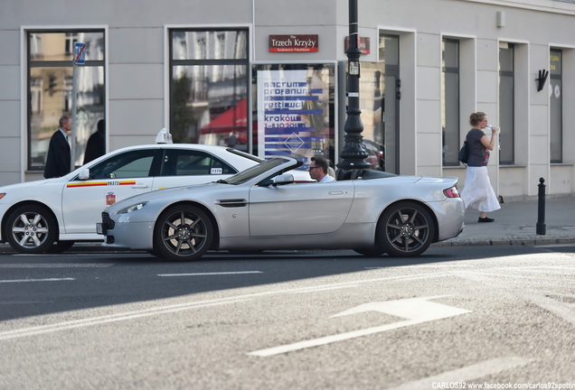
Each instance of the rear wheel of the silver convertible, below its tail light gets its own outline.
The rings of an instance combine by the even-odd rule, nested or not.
[[[405,201],[383,212],[377,237],[388,255],[414,257],[428,249],[434,234],[435,225],[429,211],[419,203]]]

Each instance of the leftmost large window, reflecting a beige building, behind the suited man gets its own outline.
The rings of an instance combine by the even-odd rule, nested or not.
[[[52,134],[61,116],[72,116],[74,43],[86,43],[86,64],[78,65],[76,166],[83,162],[90,135],[105,119],[104,32],[27,32],[28,170],[43,171]]]

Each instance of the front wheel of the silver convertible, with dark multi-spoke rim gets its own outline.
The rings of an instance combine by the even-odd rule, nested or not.
[[[152,253],[172,261],[194,261],[210,249],[212,240],[212,220],[201,209],[176,205],[157,219]]]

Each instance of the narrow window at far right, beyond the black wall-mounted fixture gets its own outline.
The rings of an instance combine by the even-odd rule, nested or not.
[[[549,59],[549,106],[551,115],[551,163],[563,162],[563,85],[561,50],[551,50]]]

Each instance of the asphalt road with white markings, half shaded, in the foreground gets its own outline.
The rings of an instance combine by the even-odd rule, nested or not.
[[[568,245],[0,255],[0,389],[575,388],[574,276]]]

